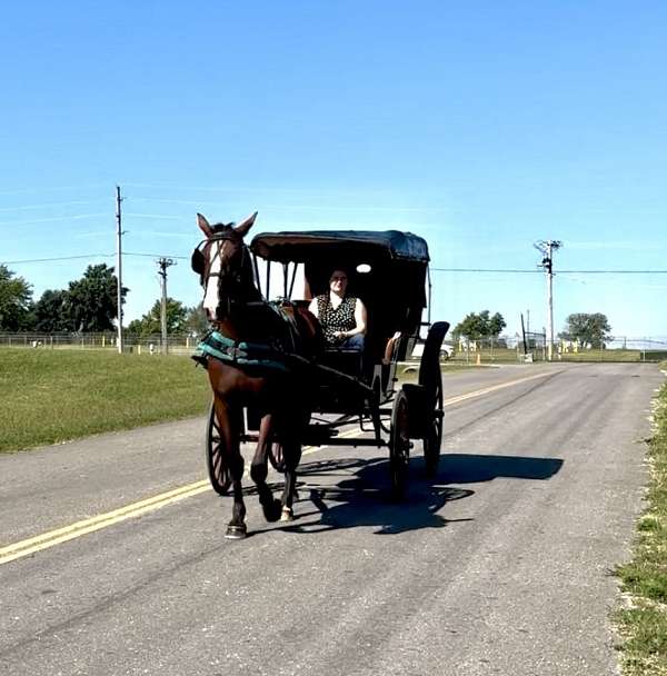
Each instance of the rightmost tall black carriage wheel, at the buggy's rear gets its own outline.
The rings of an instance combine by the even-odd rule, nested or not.
[[[429,477],[438,473],[440,446],[442,444],[442,370],[440,347],[449,330],[447,321],[436,321],[429,329],[419,365],[419,385],[426,390],[426,434],[422,437],[426,473]]]

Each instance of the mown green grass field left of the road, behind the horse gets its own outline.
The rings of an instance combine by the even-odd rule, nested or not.
[[[187,357],[0,349],[0,453],[203,414]]]

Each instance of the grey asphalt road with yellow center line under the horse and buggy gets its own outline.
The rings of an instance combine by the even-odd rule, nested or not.
[[[311,449],[298,519],[266,524],[250,489],[242,541],[201,419],[0,456],[0,674],[615,674],[610,570],[663,381],[452,374],[437,479],[416,449],[396,505],[386,451]]]

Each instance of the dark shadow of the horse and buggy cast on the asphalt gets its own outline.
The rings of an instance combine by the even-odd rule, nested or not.
[[[312,534],[375,526],[377,535],[442,528],[471,520],[447,519],[440,514],[447,503],[475,494],[470,488],[455,485],[478,484],[499,477],[546,480],[557,474],[561,465],[563,460],[558,458],[448,454],[440,460],[438,475],[427,478],[424,458],[417,456],[410,459],[408,494],[399,503],[391,497],[387,458],[303,463],[299,467],[300,500],[295,510],[298,518],[279,528]],[[331,475],[337,474],[341,478],[332,484]],[[313,509],[308,509],[308,503]]]

